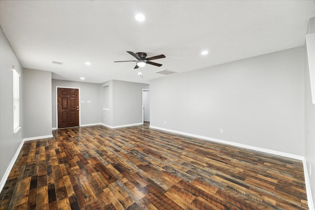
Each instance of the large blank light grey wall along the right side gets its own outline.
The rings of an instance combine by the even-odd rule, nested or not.
[[[304,155],[304,47],[152,80],[150,97],[152,126]]]

